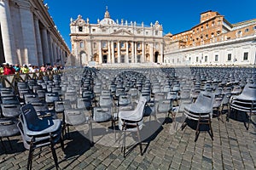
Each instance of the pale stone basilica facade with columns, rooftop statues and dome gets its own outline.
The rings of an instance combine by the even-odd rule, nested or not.
[[[71,19],[72,54],[77,65],[134,65],[163,62],[163,28],[113,20],[108,8],[102,20],[90,24],[81,15]]]

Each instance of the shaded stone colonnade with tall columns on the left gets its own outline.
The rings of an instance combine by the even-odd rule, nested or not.
[[[65,64],[70,55],[44,0],[0,0],[0,62]]]

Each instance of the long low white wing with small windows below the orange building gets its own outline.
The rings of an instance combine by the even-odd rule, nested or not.
[[[255,66],[256,34],[234,40],[166,51],[165,65]]]

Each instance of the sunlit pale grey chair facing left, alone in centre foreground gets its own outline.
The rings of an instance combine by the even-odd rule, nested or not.
[[[143,114],[146,99],[141,97],[134,111],[119,111],[119,129],[124,133],[122,150],[125,157],[125,138],[126,132],[136,132],[138,144],[140,145],[141,155],[143,155],[143,145],[139,131],[143,128]]]

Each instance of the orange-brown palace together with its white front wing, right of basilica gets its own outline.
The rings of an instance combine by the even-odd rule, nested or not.
[[[256,19],[230,24],[207,11],[189,31],[166,34],[165,44],[165,65],[255,66]]]

